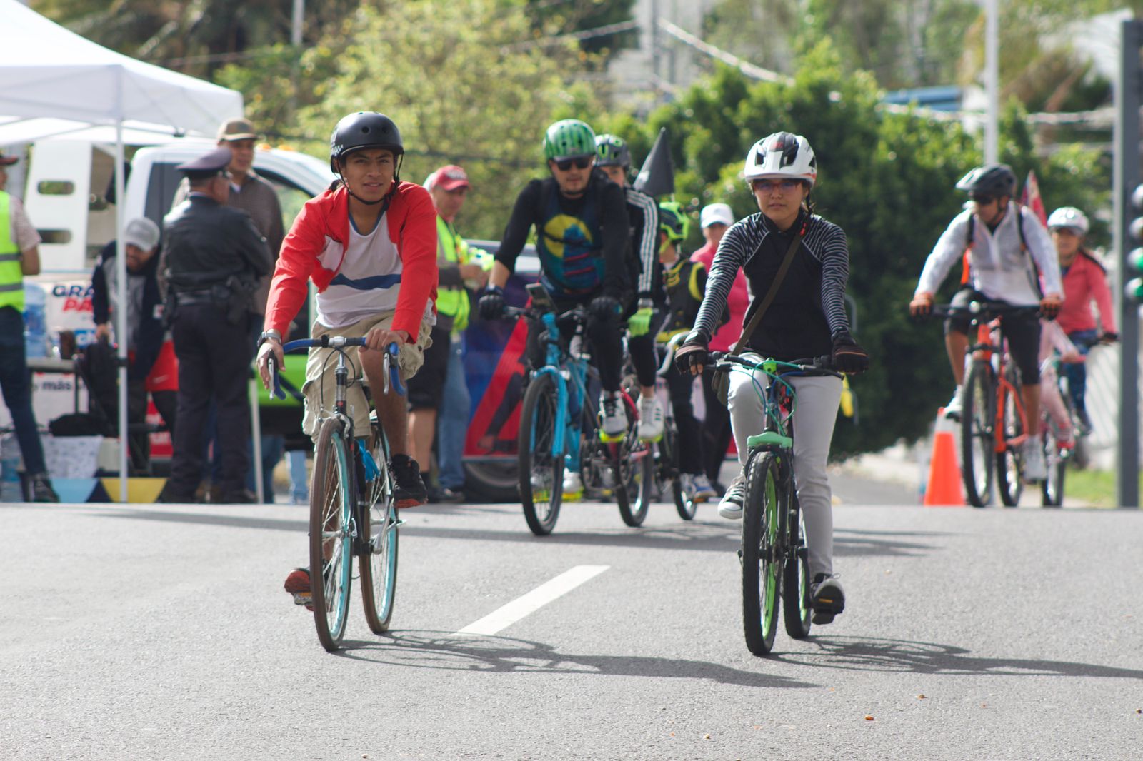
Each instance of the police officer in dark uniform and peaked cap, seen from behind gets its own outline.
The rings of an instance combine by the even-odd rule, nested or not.
[[[190,197],[163,219],[167,319],[178,357],[178,422],[162,502],[192,502],[202,475],[202,430],[210,395],[218,403],[222,497],[250,503],[246,489],[250,436],[247,399],[253,347],[247,309],[257,280],[270,273],[266,241],[250,216],[226,206],[227,147],[178,167]]]

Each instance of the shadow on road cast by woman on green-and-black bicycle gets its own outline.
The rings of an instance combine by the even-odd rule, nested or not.
[[[845,671],[909,672],[933,675],[986,676],[1098,676],[1143,679],[1143,671],[1068,660],[1036,658],[980,658],[953,644],[864,636],[814,636],[816,648],[775,656],[784,663]]]

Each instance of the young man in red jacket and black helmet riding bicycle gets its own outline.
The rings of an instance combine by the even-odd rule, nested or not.
[[[401,182],[405,154],[397,125],[384,114],[352,113],[337,122],[329,149],[330,168],[341,178],[302,208],[286,240],[270,283],[265,333],[258,349],[258,371],[270,383],[269,358],[282,362],[283,333],[307,295],[318,288],[312,335],[365,337],[350,349],[369,380],[377,417],[393,452],[398,507],[425,503],[421,468],[409,457],[408,408],[405,396],[385,387],[385,347],[400,346],[398,365],[408,379],[424,362],[424,350],[437,310],[437,210],[426,191]],[[335,361],[330,349],[312,349],[306,361],[303,430],[315,435],[318,416],[333,407]],[[359,386],[347,393],[354,430],[368,434],[369,406]],[[299,604],[310,591],[310,575],[297,569],[286,590]]]

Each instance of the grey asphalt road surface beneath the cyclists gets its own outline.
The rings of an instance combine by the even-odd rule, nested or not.
[[[858,487],[846,612],[770,658],[713,507],[567,505],[543,539],[517,505],[407,511],[394,630],[354,599],[328,655],[281,591],[304,508],[0,505],[0,759],[1140,758],[1143,515]]]

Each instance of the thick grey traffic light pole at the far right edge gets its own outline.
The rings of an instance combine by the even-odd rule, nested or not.
[[[1132,193],[1140,183],[1140,22],[1125,21],[1120,34],[1119,81],[1116,88],[1116,173],[1112,197],[1116,209],[1114,247],[1119,261],[1119,449],[1117,452],[1118,503],[1138,507],[1138,304],[1125,293],[1130,279],[1127,254],[1132,249],[1132,217],[1140,214]]]

